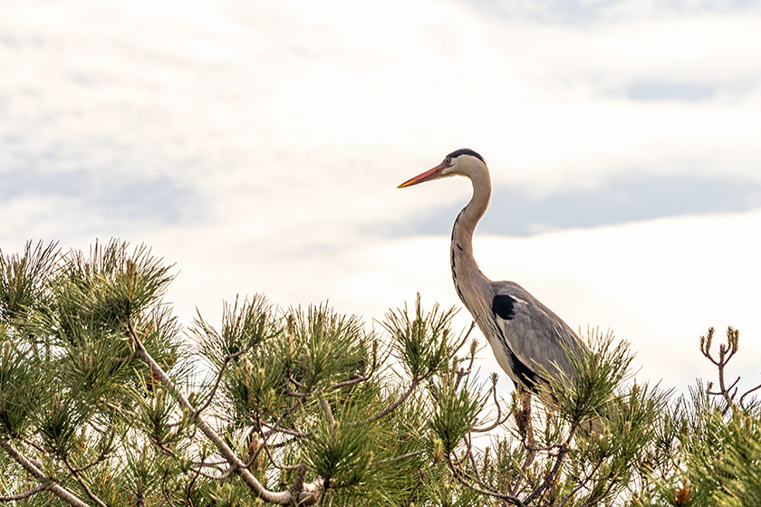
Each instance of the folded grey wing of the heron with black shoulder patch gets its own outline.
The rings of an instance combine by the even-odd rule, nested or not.
[[[515,282],[493,282],[492,289],[496,331],[512,352],[515,377],[532,387],[542,367],[551,375],[558,367],[570,374],[566,350],[583,343],[568,324]]]

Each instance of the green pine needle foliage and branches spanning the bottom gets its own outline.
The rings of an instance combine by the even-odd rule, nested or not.
[[[455,310],[418,295],[376,331],[326,304],[224,304],[188,330],[172,267],[111,241],[0,253],[0,502],[19,506],[761,504],[761,405],[675,398],[588,333],[573,375],[500,397]],[[546,378],[552,376],[546,375]],[[480,427],[479,427],[480,426]]]

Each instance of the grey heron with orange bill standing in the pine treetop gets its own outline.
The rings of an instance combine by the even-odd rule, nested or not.
[[[559,369],[571,375],[573,350],[582,340],[553,311],[515,282],[492,282],[473,257],[473,232],[486,213],[491,180],[486,161],[468,148],[458,149],[429,171],[412,177],[399,188],[442,177],[464,176],[473,184],[473,196],[452,228],[452,279],[458,296],[484,333],[497,363],[519,390],[536,392]]]

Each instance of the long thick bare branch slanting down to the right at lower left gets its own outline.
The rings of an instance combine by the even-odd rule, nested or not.
[[[256,479],[254,474],[251,474],[251,472],[246,468],[246,465],[240,460],[240,458],[237,457],[235,452],[233,452],[233,450],[228,445],[226,445],[225,441],[219,435],[217,435],[217,432],[214,431],[214,429],[208,425],[206,420],[204,420],[200,414],[197,413],[197,410],[190,404],[190,402],[188,402],[188,398],[186,398],[179,391],[175,383],[172,382],[167,373],[159,366],[159,363],[157,363],[156,360],[150,356],[148,350],[145,349],[145,346],[140,341],[137,332],[135,332],[135,329],[132,326],[132,321],[129,318],[127,320],[127,328],[130,332],[130,338],[132,339],[132,344],[135,347],[135,352],[138,354],[140,359],[148,364],[151,373],[159,379],[164,387],[167,388],[172,397],[174,397],[177,400],[179,406],[182,407],[186,413],[188,413],[188,415],[192,418],[193,422],[198,426],[201,432],[206,435],[206,437],[214,445],[217,446],[219,454],[221,454],[226,459],[227,463],[229,463],[230,466],[235,469],[235,473],[240,476],[243,482],[246,483],[246,485],[251,489],[251,491],[256,494],[256,496],[265,502],[278,503],[283,505],[292,504],[294,502],[311,505],[319,500],[320,495],[317,493],[318,486],[314,484],[305,484],[303,486],[303,490],[299,492],[290,490],[284,492],[272,492],[267,490],[265,486]]]

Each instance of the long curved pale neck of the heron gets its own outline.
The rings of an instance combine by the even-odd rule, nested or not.
[[[489,206],[491,181],[486,171],[470,176],[470,181],[473,197],[455,220],[451,244],[452,279],[460,299],[466,305],[472,301],[471,295],[475,296],[480,287],[490,282],[481,273],[473,256],[473,232]]]

